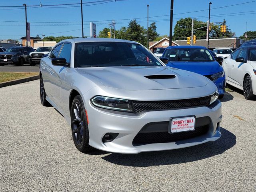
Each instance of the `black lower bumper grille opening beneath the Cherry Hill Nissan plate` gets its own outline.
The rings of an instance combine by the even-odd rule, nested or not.
[[[139,132],[133,139],[132,144],[134,146],[151,144],[151,143],[168,143],[177,142],[180,140],[185,140],[189,138],[194,138],[197,136],[204,135],[208,132],[209,126],[196,127],[194,131],[179,132],[179,133],[168,133],[168,132],[149,132],[141,133]]]

